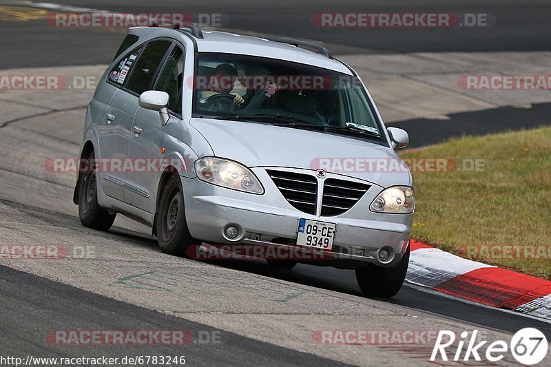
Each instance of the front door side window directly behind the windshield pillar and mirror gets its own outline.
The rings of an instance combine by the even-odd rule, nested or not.
[[[154,90],[167,92],[169,95],[168,109],[176,114],[182,112],[182,85],[184,72],[184,54],[178,47],[167,57],[163,70],[160,72]]]

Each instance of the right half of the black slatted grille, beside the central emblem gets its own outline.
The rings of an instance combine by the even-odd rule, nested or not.
[[[327,178],[323,187],[322,216],[338,216],[355,205],[369,185]]]

